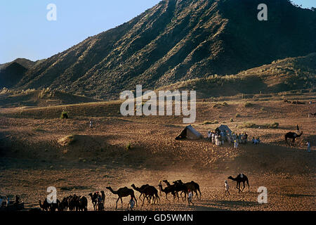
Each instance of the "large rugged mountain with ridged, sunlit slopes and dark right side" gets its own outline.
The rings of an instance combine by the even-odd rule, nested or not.
[[[268,6],[258,21],[257,6]],[[316,49],[316,12],[290,1],[166,0],[119,27],[88,37],[25,72],[17,89],[50,87],[117,98],[144,89],[237,74]]]

